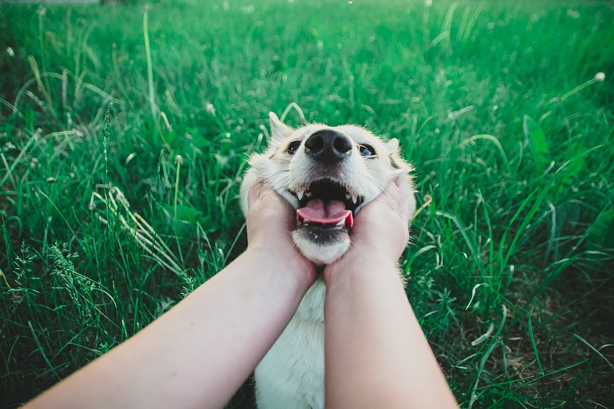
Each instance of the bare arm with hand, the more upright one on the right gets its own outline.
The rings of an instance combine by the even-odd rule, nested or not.
[[[394,183],[356,216],[324,271],[325,407],[457,408],[398,276],[409,204]]]

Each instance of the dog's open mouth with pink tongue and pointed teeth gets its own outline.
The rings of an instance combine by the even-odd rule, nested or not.
[[[295,193],[298,199],[297,222],[300,227],[349,229],[354,213],[364,201],[362,196],[332,180],[312,182]]]

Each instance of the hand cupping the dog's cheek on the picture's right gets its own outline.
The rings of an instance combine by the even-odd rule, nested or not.
[[[410,239],[410,198],[402,198],[398,186],[389,181],[375,200],[366,204],[354,218],[352,246],[338,261],[324,270],[324,281],[332,270],[344,269],[362,256],[383,264],[396,264]]]

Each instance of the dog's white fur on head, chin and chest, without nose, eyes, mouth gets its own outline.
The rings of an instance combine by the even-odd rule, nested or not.
[[[389,180],[395,180],[402,198],[410,199],[410,212],[414,212],[416,205],[410,177],[413,169],[400,157],[397,139],[384,142],[355,125],[332,128],[324,124],[306,124],[292,129],[279,121],[273,112],[270,120],[270,146],[265,153],[250,158],[250,168],[241,185],[241,207],[245,215],[247,191],[258,178],[266,178],[295,208],[299,207],[296,192],[304,191],[310,183],[322,178],[334,180],[345,186],[349,194],[362,198],[356,212],[379,196]],[[322,129],[341,132],[352,141],[348,158],[340,161],[334,172],[326,174],[322,174],[322,169],[306,155],[304,143]],[[286,150],[293,141],[301,143],[296,153],[290,155]],[[375,148],[376,155],[361,156],[359,146],[364,144]],[[295,231],[293,240],[301,253],[318,265],[330,264],[351,246],[347,234],[340,234],[335,242],[322,244]],[[324,408],[324,295],[324,282],[317,280],[277,342],[258,364],[255,370],[258,408]]]

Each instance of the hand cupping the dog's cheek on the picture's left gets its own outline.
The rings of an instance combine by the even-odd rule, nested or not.
[[[306,259],[292,241],[296,210],[266,180],[258,179],[247,194],[247,248],[288,261],[316,275],[313,262]],[[273,259],[272,259],[273,260]]]

